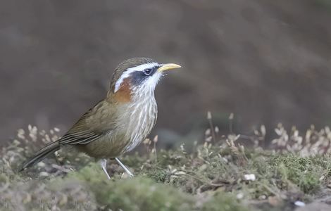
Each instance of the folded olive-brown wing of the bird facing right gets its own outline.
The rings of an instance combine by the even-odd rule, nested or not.
[[[87,111],[59,140],[60,145],[87,144],[110,132],[114,127],[115,108],[100,101]]]

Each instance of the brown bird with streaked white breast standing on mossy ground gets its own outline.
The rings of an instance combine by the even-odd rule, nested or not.
[[[100,160],[111,179],[107,159],[115,159],[130,177],[134,175],[118,159],[132,151],[151,132],[158,115],[154,95],[166,70],[181,68],[175,63],[158,63],[151,58],[130,58],[120,63],[111,77],[106,97],[87,110],[60,139],[49,143],[23,163],[20,171],[42,161],[60,148],[71,146]]]

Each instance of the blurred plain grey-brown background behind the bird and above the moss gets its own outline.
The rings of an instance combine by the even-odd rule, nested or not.
[[[330,124],[331,0],[1,1],[1,140],[65,132],[137,56],[184,67],[156,90],[163,140],[201,134],[207,110],[222,132],[231,112],[246,134]]]

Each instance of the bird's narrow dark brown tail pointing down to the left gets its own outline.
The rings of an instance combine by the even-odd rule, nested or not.
[[[55,141],[53,143],[49,143],[49,145],[45,146],[41,150],[37,151],[35,156],[30,158],[30,160],[27,160],[22,167],[20,168],[20,172],[27,169],[28,167],[31,167],[32,165],[35,165],[36,163],[43,160],[47,155],[54,153],[60,149],[60,145],[58,144],[58,141]]]

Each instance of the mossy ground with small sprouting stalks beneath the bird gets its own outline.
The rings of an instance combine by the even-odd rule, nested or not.
[[[66,152],[17,172],[39,139],[56,138],[19,136],[1,150],[0,210],[294,210],[296,201],[331,194],[327,154],[249,150],[231,139],[164,151],[146,141],[145,150],[121,159],[136,176],[109,162],[108,180],[99,163]]]

